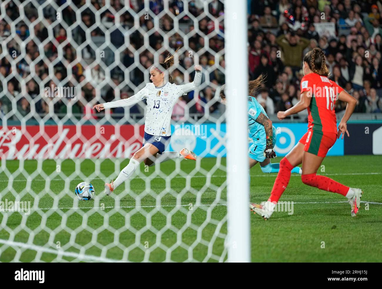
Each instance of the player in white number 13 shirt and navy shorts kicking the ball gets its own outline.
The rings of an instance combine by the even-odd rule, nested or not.
[[[123,168],[115,181],[105,183],[106,194],[111,194],[115,188],[126,181],[142,161],[146,165],[152,166],[159,162],[180,157],[196,160],[196,155],[188,149],[182,149],[180,152],[165,152],[171,138],[171,114],[176,101],[178,101],[179,96],[186,95],[198,87],[202,79],[202,67],[195,65],[193,82],[184,85],[170,83],[172,79],[169,68],[173,64],[174,55],[167,56],[165,61],[160,63],[159,66],[154,65],[151,67],[150,80],[152,83],[147,83],[137,94],[127,99],[101,103],[93,107],[93,109],[100,112],[105,108],[131,106],[144,99],[147,102],[142,148],[133,154],[129,164]],[[161,156],[157,156],[158,153]]]

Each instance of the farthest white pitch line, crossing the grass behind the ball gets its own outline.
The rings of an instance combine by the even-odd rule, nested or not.
[[[321,176],[355,176],[355,175],[382,175],[382,172],[381,173],[323,173],[323,174],[319,174]],[[264,174],[261,174],[261,175],[250,175],[250,177],[276,177],[277,174],[276,173],[264,173]],[[293,173],[291,175],[291,177],[300,177],[301,175],[299,175],[298,173]],[[150,176],[147,176],[147,177],[134,177],[134,178],[139,178],[139,179],[145,179],[145,178],[148,178]],[[211,178],[226,178],[227,175],[210,175],[208,177],[211,177]],[[134,179],[132,178],[132,180]],[[156,176],[154,178],[161,178],[163,179],[162,177],[160,176]],[[200,176],[200,175],[197,175],[197,176],[186,176],[186,177],[182,177],[182,176],[175,176],[175,177],[171,177],[172,179],[173,178],[207,178],[207,176],[203,175],[203,176]],[[66,179],[66,180],[71,180],[71,181],[74,181],[74,180],[82,180],[81,178],[69,178],[69,179]],[[66,181],[62,178],[58,178],[58,179],[52,179],[50,181]],[[92,180],[103,180],[103,178],[92,178]],[[9,180],[0,180],[0,182],[8,182]],[[13,180],[14,182],[15,181],[26,181],[26,180]],[[33,179],[31,181],[46,181],[45,179]]]

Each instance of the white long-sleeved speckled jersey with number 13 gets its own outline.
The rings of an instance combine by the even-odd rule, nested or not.
[[[127,99],[104,103],[104,108],[129,106],[146,98],[146,120],[144,131],[149,135],[170,136],[171,115],[179,96],[198,87],[201,83],[202,72],[195,71],[194,81],[184,85],[167,82],[162,87],[155,87],[154,83],[147,83],[139,92]]]

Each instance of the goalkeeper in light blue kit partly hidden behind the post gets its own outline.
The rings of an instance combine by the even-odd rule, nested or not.
[[[263,173],[278,173],[280,164],[272,164],[270,162],[270,159],[276,157],[276,153],[273,150],[276,143],[276,129],[264,108],[254,97],[263,81],[264,75],[260,75],[257,79],[251,80],[248,83],[248,128],[253,140],[253,144],[248,152],[249,169],[259,162]],[[224,88],[225,85],[220,90],[222,104],[226,104]],[[291,172],[301,174],[301,168],[295,167]]]

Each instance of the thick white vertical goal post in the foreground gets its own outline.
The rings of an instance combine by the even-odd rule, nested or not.
[[[228,262],[250,262],[245,1],[225,2]]]

